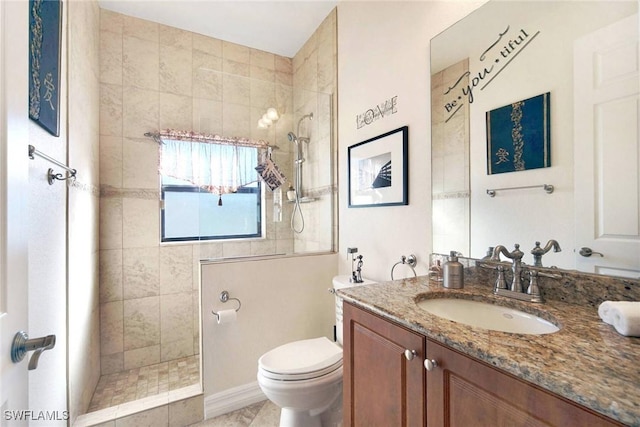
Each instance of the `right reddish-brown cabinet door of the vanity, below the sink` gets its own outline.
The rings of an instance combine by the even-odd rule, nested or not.
[[[431,340],[427,426],[618,426],[569,400]]]

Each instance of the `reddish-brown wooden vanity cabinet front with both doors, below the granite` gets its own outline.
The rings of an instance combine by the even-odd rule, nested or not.
[[[623,425],[347,302],[343,369],[345,426]]]

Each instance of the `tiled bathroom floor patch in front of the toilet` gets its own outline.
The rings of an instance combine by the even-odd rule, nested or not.
[[[278,427],[280,408],[269,400],[219,417],[192,424],[191,427]]]

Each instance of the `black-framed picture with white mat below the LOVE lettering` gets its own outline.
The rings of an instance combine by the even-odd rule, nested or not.
[[[408,148],[407,126],[349,147],[350,208],[409,204]]]

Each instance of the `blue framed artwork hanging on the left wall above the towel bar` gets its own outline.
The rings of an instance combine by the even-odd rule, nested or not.
[[[29,0],[29,118],[60,136],[62,1]]]

